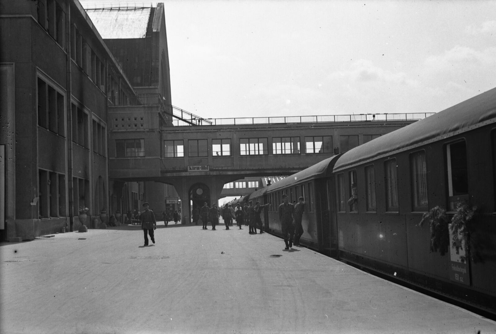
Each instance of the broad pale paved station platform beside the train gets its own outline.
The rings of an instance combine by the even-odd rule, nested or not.
[[[222,220],[221,220],[222,222]],[[495,333],[496,322],[248,226],[1,243],[0,333]]]

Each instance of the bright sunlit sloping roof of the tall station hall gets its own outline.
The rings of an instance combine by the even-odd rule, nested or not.
[[[86,9],[96,29],[105,39],[144,38],[152,8]]]

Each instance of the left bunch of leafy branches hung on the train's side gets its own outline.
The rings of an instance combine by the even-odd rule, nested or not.
[[[431,251],[439,251],[441,255],[446,254],[449,247],[449,218],[446,209],[435,206],[422,216],[419,226],[425,222],[429,223],[431,229]]]

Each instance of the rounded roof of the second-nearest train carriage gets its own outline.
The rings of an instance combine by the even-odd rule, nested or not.
[[[303,169],[302,171],[299,171],[295,174],[289,175],[280,181],[277,181],[275,183],[272,183],[271,185],[266,186],[265,188],[252,192],[250,197],[253,198],[256,196],[260,196],[260,194],[264,194],[267,191],[284,189],[294,183],[306,182],[314,178],[328,176],[332,172],[332,167],[334,166],[334,163],[338,160],[339,157],[340,155],[337,155],[324,159],[313,166]]]

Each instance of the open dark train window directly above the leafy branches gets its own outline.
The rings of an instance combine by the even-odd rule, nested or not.
[[[465,141],[446,145],[449,209],[468,199],[467,146]]]

